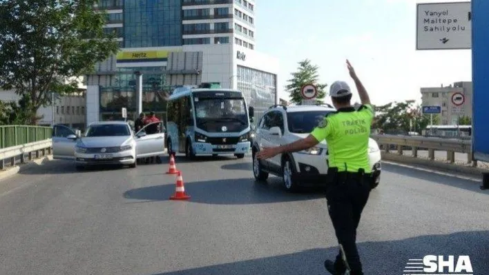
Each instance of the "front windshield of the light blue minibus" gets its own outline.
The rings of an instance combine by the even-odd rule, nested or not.
[[[240,132],[248,126],[245,99],[242,98],[195,98],[197,127],[209,132],[221,132],[223,125],[228,132]]]

